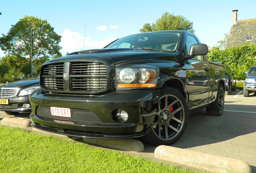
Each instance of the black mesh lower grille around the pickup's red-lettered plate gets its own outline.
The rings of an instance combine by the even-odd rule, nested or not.
[[[54,120],[64,120],[64,121],[79,121],[79,122],[87,122],[87,123],[101,123],[101,120],[95,113],[89,110],[85,109],[70,109],[71,117],[58,117],[51,115],[50,107],[47,106],[39,106],[36,110],[36,115],[40,119],[46,120],[46,121],[52,121]]]

